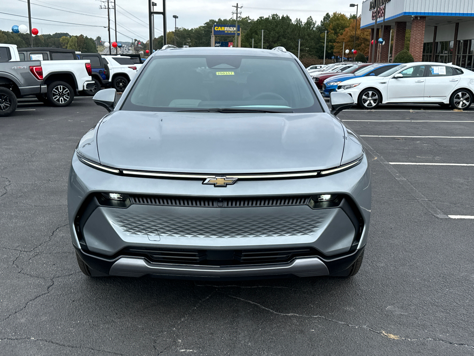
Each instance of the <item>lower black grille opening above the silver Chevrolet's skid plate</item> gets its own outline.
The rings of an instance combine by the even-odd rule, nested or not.
[[[122,256],[144,257],[152,263],[233,266],[290,262],[295,257],[315,256],[313,247],[290,247],[254,250],[191,250],[153,247],[126,247]]]

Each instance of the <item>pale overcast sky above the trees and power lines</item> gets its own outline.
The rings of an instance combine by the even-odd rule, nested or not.
[[[11,31],[13,25],[25,24],[28,26],[26,0],[0,0],[0,2],[0,29]],[[155,11],[161,11],[163,2],[160,0],[155,0],[155,2],[158,4]],[[292,20],[301,18],[303,21],[312,16],[313,19],[319,22],[326,12],[338,11],[346,15],[355,13],[356,8],[349,7],[351,2],[358,3],[360,10],[362,0],[252,0],[244,1],[244,7],[240,11],[242,11],[243,17],[250,16],[252,19],[277,13],[279,15],[289,15]],[[146,40],[148,38],[147,0],[116,0],[116,3],[117,31],[120,32],[117,33],[118,41],[130,41],[130,37]],[[32,26],[38,28],[40,34],[68,32],[79,35],[82,33],[93,38],[100,36],[107,39],[107,9],[99,9],[100,4],[103,5],[104,1],[31,0],[31,17],[37,18],[32,19]],[[110,4],[113,4],[113,0],[110,1]],[[174,28],[173,15],[179,17],[177,19],[178,27],[192,28],[202,25],[209,19],[230,18],[234,9],[232,5],[235,6],[235,4],[235,2],[226,0],[167,0],[168,31]],[[107,1],[105,1],[105,5],[107,6]],[[110,28],[112,30],[114,28],[113,10],[110,12]],[[79,26],[72,23],[92,26]],[[156,33],[163,33],[163,22],[158,16],[156,16],[155,28],[155,37],[158,37]],[[113,32],[111,32],[111,37],[113,41],[115,37]]]

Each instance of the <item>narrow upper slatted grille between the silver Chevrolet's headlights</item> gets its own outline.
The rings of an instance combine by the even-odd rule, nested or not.
[[[187,207],[260,207],[300,206],[310,203],[310,196],[303,197],[162,197],[131,195],[130,200],[138,205],[187,206]]]

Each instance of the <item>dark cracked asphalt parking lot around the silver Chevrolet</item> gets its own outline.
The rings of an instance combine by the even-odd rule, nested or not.
[[[341,112],[372,169],[360,272],[217,284],[80,272],[66,182],[105,113],[26,99],[0,119],[0,355],[474,355],[474,220],[457,218],[474,215],[474,110]]]

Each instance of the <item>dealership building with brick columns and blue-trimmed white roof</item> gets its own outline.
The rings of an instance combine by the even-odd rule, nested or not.
[[[404,49],[405,32],[410,29],[410,53],[415,61],[452,62],[474,69],[474,0],[365,0],[361,12],[361,28],[371,28],[371,38],[377,12],[375,38],[385,40],[379,62],[388,61],[390,31],[394,58]]]

